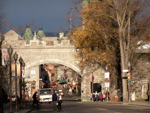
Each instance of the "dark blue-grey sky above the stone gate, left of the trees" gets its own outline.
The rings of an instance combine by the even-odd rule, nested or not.
[[[11,28],[26,26],[31,20],[44,32],[68,30],[67,13],[77,0],[3,0],[3,12]],[[73,20],[73,19],[72,19]]]

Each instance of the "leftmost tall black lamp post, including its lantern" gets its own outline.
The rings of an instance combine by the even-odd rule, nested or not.
[[[12,49],[12,47],[10,46],[9,48],[8,48],[8,54],[9,54],[9,60],[10,60],[10,67],[9,67],[9,96],[10,96],[10,108],[9,108],[9,113],[13,113],[13,111],[12,111],[12,97],[11,97],[11,95],[12,95],[12,85],[11,85],[11,79],[12,79],[12,73],[11,73],[11,55],[12,55],[12,53],[13,53],[13,49]]]

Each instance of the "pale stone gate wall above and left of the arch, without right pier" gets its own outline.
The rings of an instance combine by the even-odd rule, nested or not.
[[[78,61],[76,59],[76,50],[74,45],[70,43],[70,40],[58,41],[57,37],[44,37],[43,41],[30,40],[27,43],[25,40],[19,39],[19,35],[10,30],[4,34],[4,40],[2,48],[8,49],[11,45],[13,48],[13,54],[17,52],[18,60],[20,56],[25,62],[25,72],[28,72],[26,82],[36,81],[36,90],[39,89],[39,65],[44,63],[57,63],[67,66],[73,69],[77,73],[80,73],[78,68]],[[12,57],[13,57],[12,54]],[[7,55],[7,59],[9,56]],[[14,59],[12,58],[12,63]],[[35,70],[35,77],[31,77],[31,70]],[[30,86],[30,83],[28,84]],[[27,86],[27,87],[28,87]],[[30,88],[29,88],[30,89]],[[30,96],[32,96],[30,89]]]

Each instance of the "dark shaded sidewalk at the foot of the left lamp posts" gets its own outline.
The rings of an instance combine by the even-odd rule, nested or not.
[[[20,104],[18,106],[19,111],[15,111],[15,103],[13,103],[12,109],[13,109],[13,113],[29,113],[30,111],[32,111],[32,103],[31,102],[27,102],[25,109],[20,110]],[[3,111],[4,113],[9,113],[10,107],[9,107],[9,103],[7,104],[3,104]]]

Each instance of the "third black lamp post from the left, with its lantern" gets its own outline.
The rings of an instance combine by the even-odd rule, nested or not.
[[[22,109],[22,57],[19,58],[20,62],[20,109]]]

